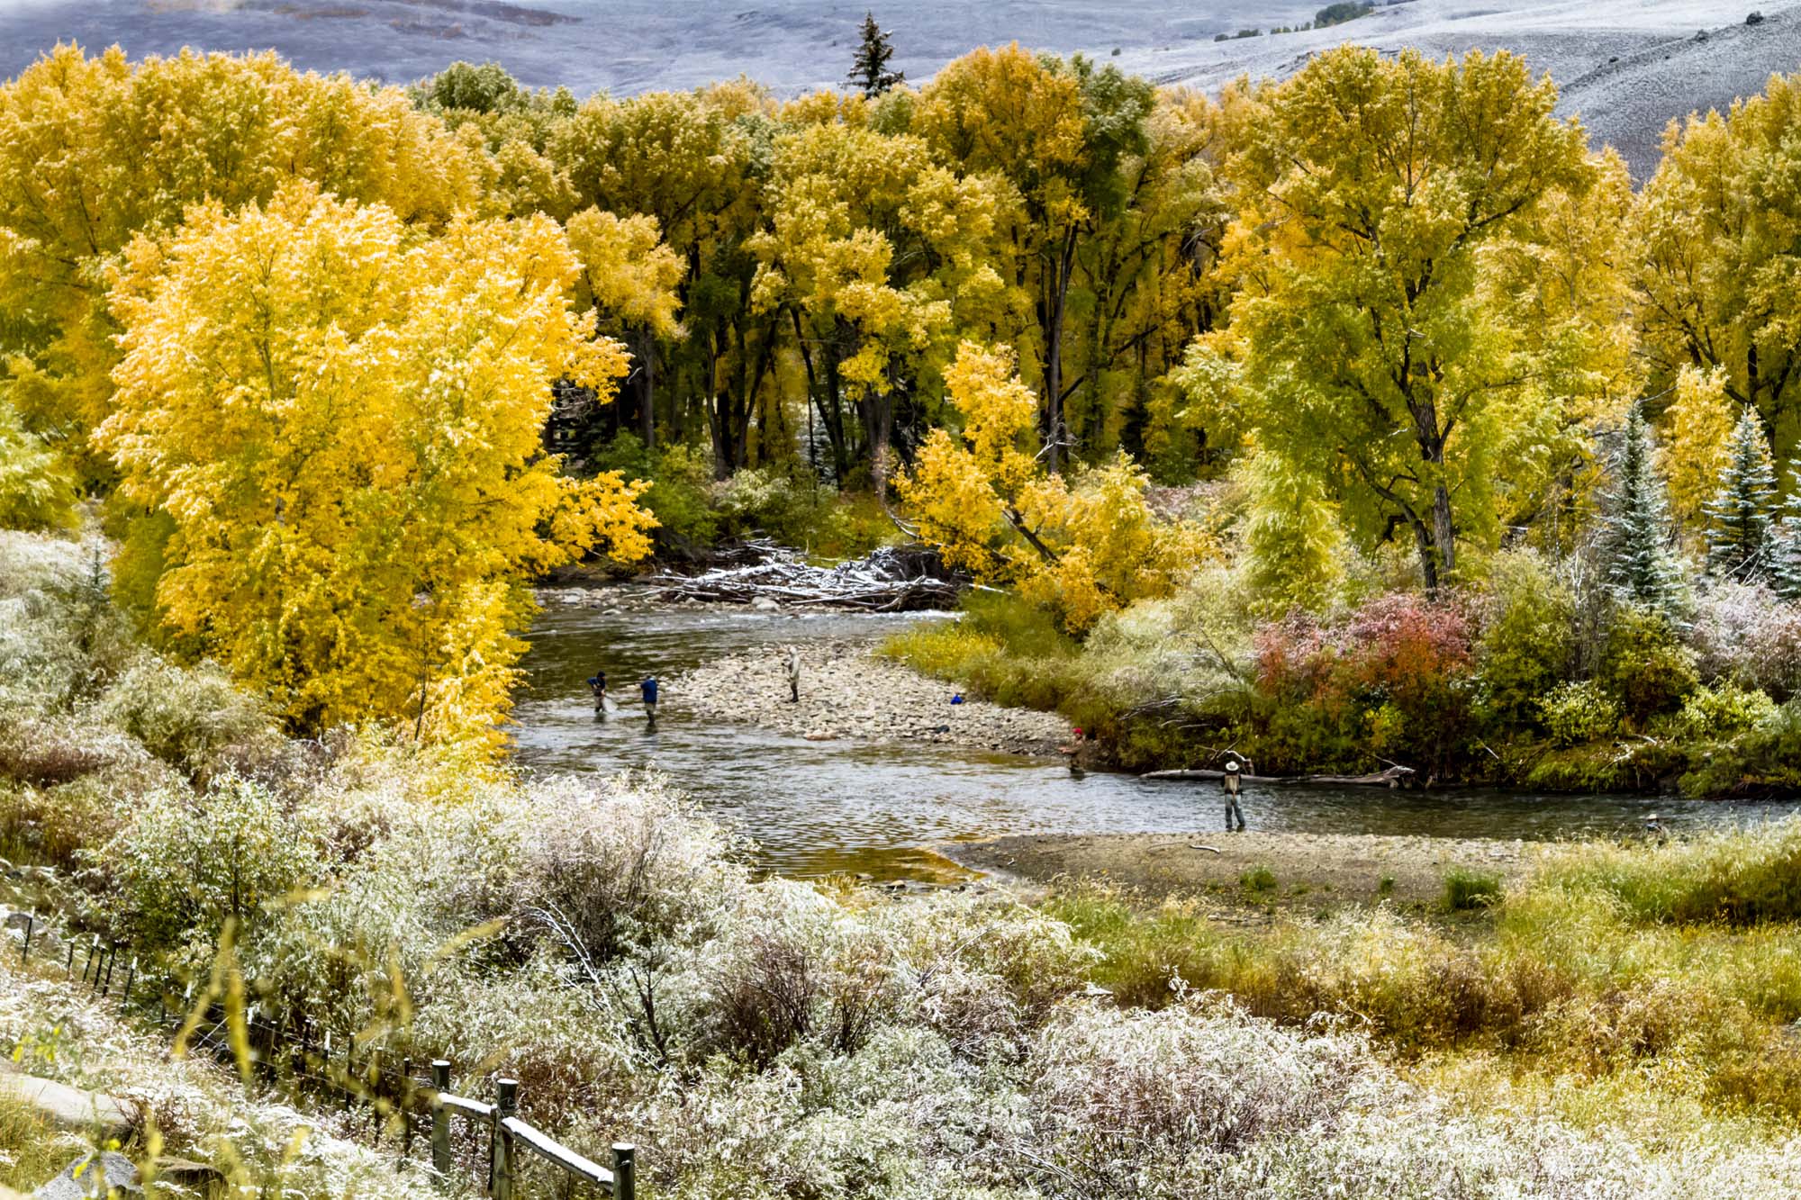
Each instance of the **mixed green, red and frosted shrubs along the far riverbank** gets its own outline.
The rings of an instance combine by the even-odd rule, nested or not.
[[[1579,559],[1509,551],[1437,600],[1378,573],[1317,613],[1259,614],[1244,568],[1082,641],[1018,596],[886,652],[1007,705],[1055,708],[1127,768],[1363,773],[1540,789],[1770,795],[1801,786],[1801,607],[1718,582],[1680,616],[1619,600]]]

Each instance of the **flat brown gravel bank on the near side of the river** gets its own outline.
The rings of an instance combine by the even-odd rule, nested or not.
[[[1444,894],[1444,876],[1459,867],[1511,883],[1527,874],[1538,843],[1212,831],[1021,834],[938,849],[973,870],[1034,885],[1097,879],[1153,897],[1214,894],[1259,906],[1331,906],[1383,897],[1432,903]],[[1244,885],[1259,867],[1273,876],[1273,886]],[[1385,879],[1392,883],[1385,886]]]

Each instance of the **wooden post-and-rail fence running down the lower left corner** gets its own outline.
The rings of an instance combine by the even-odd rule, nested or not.
[[[23,917],[23,924],[18,919]],[[22,930],[20,964],[31,962],[32,941],[40,951],[50,933],[40,924],[38,914],[13,914],[7,917],[9,928]],[[63,937],[67,946],[63,969],[70,982],[76,977],[77,939]],[[133,989],[139,989],[139,960],[130,957],[119,975],[119,989],[113,993],[113,969],[119,964],[119,951],[128,950],[119,944],[101,944],[99,937],[86,939],[86,951],[81,962],[79,984],[92,995],[106,998],[117,995],[121,1014],[130,1016]],[[186,1034],[187,1045],[198,1045],[218,1054],[234,1054],[231,1045],[231,1014],[222,1005],[189,1009],[193,984],[176,998],[173,987],[140,989],[139,1007],[146,1009],[158,1027],[175,1025]],[[153,1007],[151,1007],[153,1005]],[[186,1016],[182,1016],[187,1009]],[[375,1115],[375,1141],[380,1144],[384,1126],[398,1117],[402,1126],[402,1157],[412,1157],[414,1119],[430,1117],[430,1153],[432,1169],[448,1177],[454,1166],[452,1155],[452,1119],[463,1117],[477,1128],[477,1141],[484,1141],[481,1159],[486,1166],[484,1193],[493,1200],[522,1200],[520,1196],[520,1155],[531,1153],[549,1166],[591,1184],[614,1200],[636,1200],[638,1195],[638,1151],[630,1142],[612,1144],[612,1166],[603,1168],[593,1159],[569,1150],[544,1130],[529,1124],[519,1115],[519,1083],[515,1079],[495,1079],[493,1103],[457,1095],[450,1090],[450,1063],[432,1061],[430,1081],[412,1076],[412,1061],[402,1059],[398,1076],[384,1070],[380,1049],[373,1049],[362,1068],[355,1063],[357,1040],[344,1040],[344,1054],[337,1058],[331,1049],[331,1031],[324,1031],[313,1041],[315,1022],[304,1014],[288,1014],[286,1020],[265,1016],[258,1007],[250,1007],[243,1018],[243,1038],[252,1063],[268,1072],[286,1068],[283,1077],[294,1083],[312,1083],[342,1095],[344,1106],[353,1101],[367,1101]],[[178,1034],[178,1038],[182,1038]],[[481,1137],[484,1133],[484,1137]]]

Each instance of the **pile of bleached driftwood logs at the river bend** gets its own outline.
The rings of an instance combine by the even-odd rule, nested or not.
[[[758,607],[821,607],[863,613],[947,609],[967,586],[924,546],[884,546],[868,559],[818,568],[792,550],[751,542],[755,560],[699,575],[654,575],[665,600],[710,600]]]

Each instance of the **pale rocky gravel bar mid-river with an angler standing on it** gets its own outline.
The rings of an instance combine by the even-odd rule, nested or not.
[[[875,739],[1050,755],[1068,741],[1063,717],[965,699],[955,688],[875,656],[868,643],[798,645],[800,703],[780,652],[735,654],[668,681],[670,695],[713,721],[740,721],[812,741]]]

